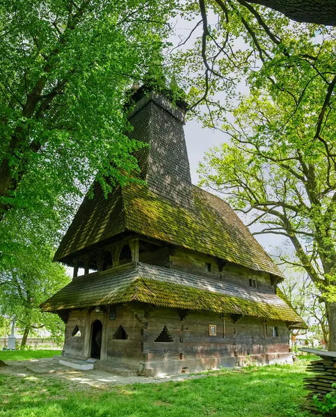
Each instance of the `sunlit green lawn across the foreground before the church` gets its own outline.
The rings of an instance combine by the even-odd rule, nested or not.
[[[93,388],[46,375],[0,375],[1,417],[304,417],[294,365],[221,370],[182,382]]]

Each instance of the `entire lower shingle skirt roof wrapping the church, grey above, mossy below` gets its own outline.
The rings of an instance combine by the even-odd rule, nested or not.
[[[225,277],[209,279],[144,263],[78,277],[41,308],[58,311],[134,301],[269,318],[305,327],[301,317],[278,295],[230,284]]]

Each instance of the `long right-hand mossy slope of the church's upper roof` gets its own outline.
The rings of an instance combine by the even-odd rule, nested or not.
[[[193,186],[194,208],[178,206],[143,186],[122,189],[125,227],[173,245],[282,277],[264,249],[222,199]]]

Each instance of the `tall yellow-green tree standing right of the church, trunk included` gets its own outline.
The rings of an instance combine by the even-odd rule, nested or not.
[[[289,76],[289,82],[294,95],[302,79]],[[230,145],[212,149],[200,173],[202,183],[225,195],[234,209],[254,215],[250,225],[262,225],[255,234],[291,242],[298,265],[321,291],[329,348],[336,350],[336,112],[330,95],[328,115],[316,124],[326,97],[318,82],[312,84],[299,104],[286,88],[271,97],[253,90],[234,111],[234,124],[223,122]]]

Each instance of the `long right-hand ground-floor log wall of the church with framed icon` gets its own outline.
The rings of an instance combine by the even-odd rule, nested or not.
[[[182,316],[183,317],[183,316]],[[264,336],[262,318],[230,315],[204,311],[189,311],[181,320],[177,309],[154,308],[144,329],[143,350],[147,360],[198,359],[211,355],[246,356],[289,351],[289,330],[284,322],[268,320],[268,334]],[[209,336],[209,325],[216,325],[216,336]],[[155,342],[166,326],[173,342]],[[273,327],[279,336],[273,336]],[[225,332],[223,332],[225,327]]]

